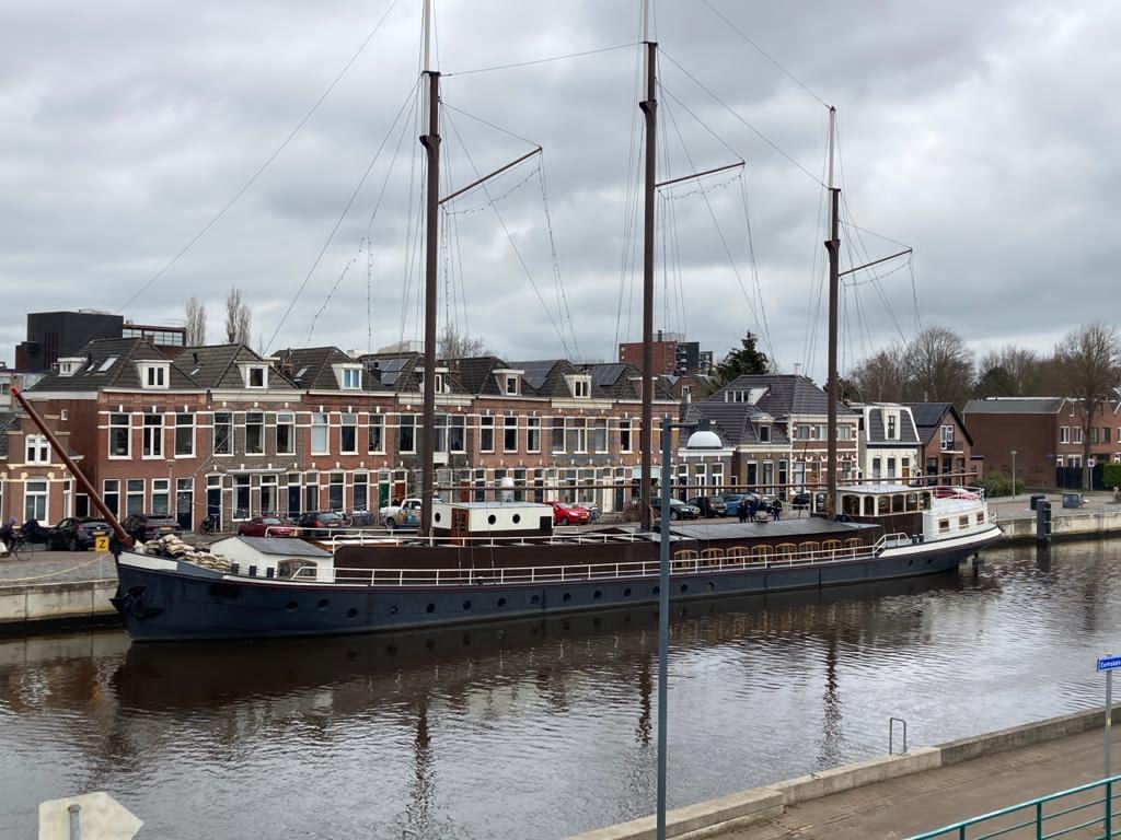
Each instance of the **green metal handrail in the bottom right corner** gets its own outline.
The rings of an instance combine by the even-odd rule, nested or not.
[[[1113,790],[1118,782],[1121,782],[1121,776],[1110,776],[1097,782],[1091,782],[1077,787],[1071,787],[1066,791],[1051,793],[1047,796],[1028,800],[1027,802],[1021,802],[1017,805],[1002,808],[999,811],[981,814],[980,816],[963,820],[962,822],[955,822],[951,825],[944,825],[943,828],[935,829],[934,831],[915,834],[909,840],[964,840],[966,837],[969,837],[969,840],[991,840],[997,837],[1030,837],[1035,840],[1049,840],[1053,838],[1067,837],[1072,834],[1072,832],[1092,827],[1095,832],[1099,830],[1103,832],[1100,834],[1095,833],[1095,838],[1099,840],[1111,840],[1111,838],[1121,837],[1121,831],[1113,830],[1114,819],[1119,815],[1113,812]],[[1063,806],[1055,811],[1047,811],[1047,805],[1049,803],[1058,803],[1068,797],[1096,792],[1099,790],[1101,790],[1101,795],[1096,799],[1068,804],[1068,806]],[[1064,803],[1064,805],[1067,805],[1067,803]],[[1095,816],[1094,819],[1075,824],[1067,824],[1067,821],[1062,821],[1062,824],[1056,824],[1056,821],[1060,821],[1062,818],[1069,816],[1073,813],[1085,811],[1099,805],[1102,806],[1101,816]],[[999,828],[993,827],[993,830],[988,831],[986,833],[974,833],[975,829],[984,829],[984,823],[986,822],[998,820],[1002,821],[1009,816],[1012,819],[1019,818],[1022,821],[1018,821],[1011,825],[1001,823]],[[1050,825],[1048,825],[1048,823],[1050,823]],[[1054,831],[1048,832],[1048,828],[1053,828]],[[1021,829],[1028,829],[1030,831],[1020,834],[1010,833],[1013,831],[1020,831]],[[1080,837],[1082,837],[1082,834],[1080,834]]]

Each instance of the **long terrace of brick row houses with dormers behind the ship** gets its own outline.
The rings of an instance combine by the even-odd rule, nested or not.
[[[61,358],[28,398],[119,515],[170,513],[191,528],[210,515],[229,526],[261,513],[374,510],[417,492],[423,384],[411,353],[354,358],[321,347],[265,358],[217,345],[168,358],[133,338]],[[509,478],[521,497],[603,510],[637,493],[633,367],[488,356],[442,363],[435,385],[444,492],[482,498]],[[656,417],[676,417],[677,402],[654,386]],[[89,500],[30,421],[8,422],[0,510],[50,522],[85,515]]]

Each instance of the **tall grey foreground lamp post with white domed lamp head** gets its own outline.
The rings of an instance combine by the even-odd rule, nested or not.
[[[661,492],[658,513],[658,806],[657,840],[666,840],[666,731],[668,709],[666,706],[668,651],[669,651],[669,482],[670,482],[670,432],[674,429],[696,429],[689,436],[686,449],[719,449],[720,438],[708,431],[708,422],[675,423],[668,417],[661,419]]]

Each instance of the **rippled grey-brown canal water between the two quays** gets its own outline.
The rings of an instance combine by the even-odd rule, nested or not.
[[[670,806],[1103,701],[1119,543],[677,608]],[[141,837],[563,838],[650,813],[657,613],[305,642],[0,638],[0,837],[111,792]],[[897,732],[898,737],[898,732]]]

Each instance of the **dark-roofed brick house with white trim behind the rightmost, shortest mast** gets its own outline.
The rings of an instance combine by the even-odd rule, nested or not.
[[[685,409],[691,421],[708,420],[728,447],[694,478],[785,496],[789,487],[823,487],[828,448],[828,396],[806,376],[739,376]],[[859,416],[837,405],[839,479],[860,477]],[[716,480],[714,473],[728,472]],[[701,483],[701,482],[695,482]]]

